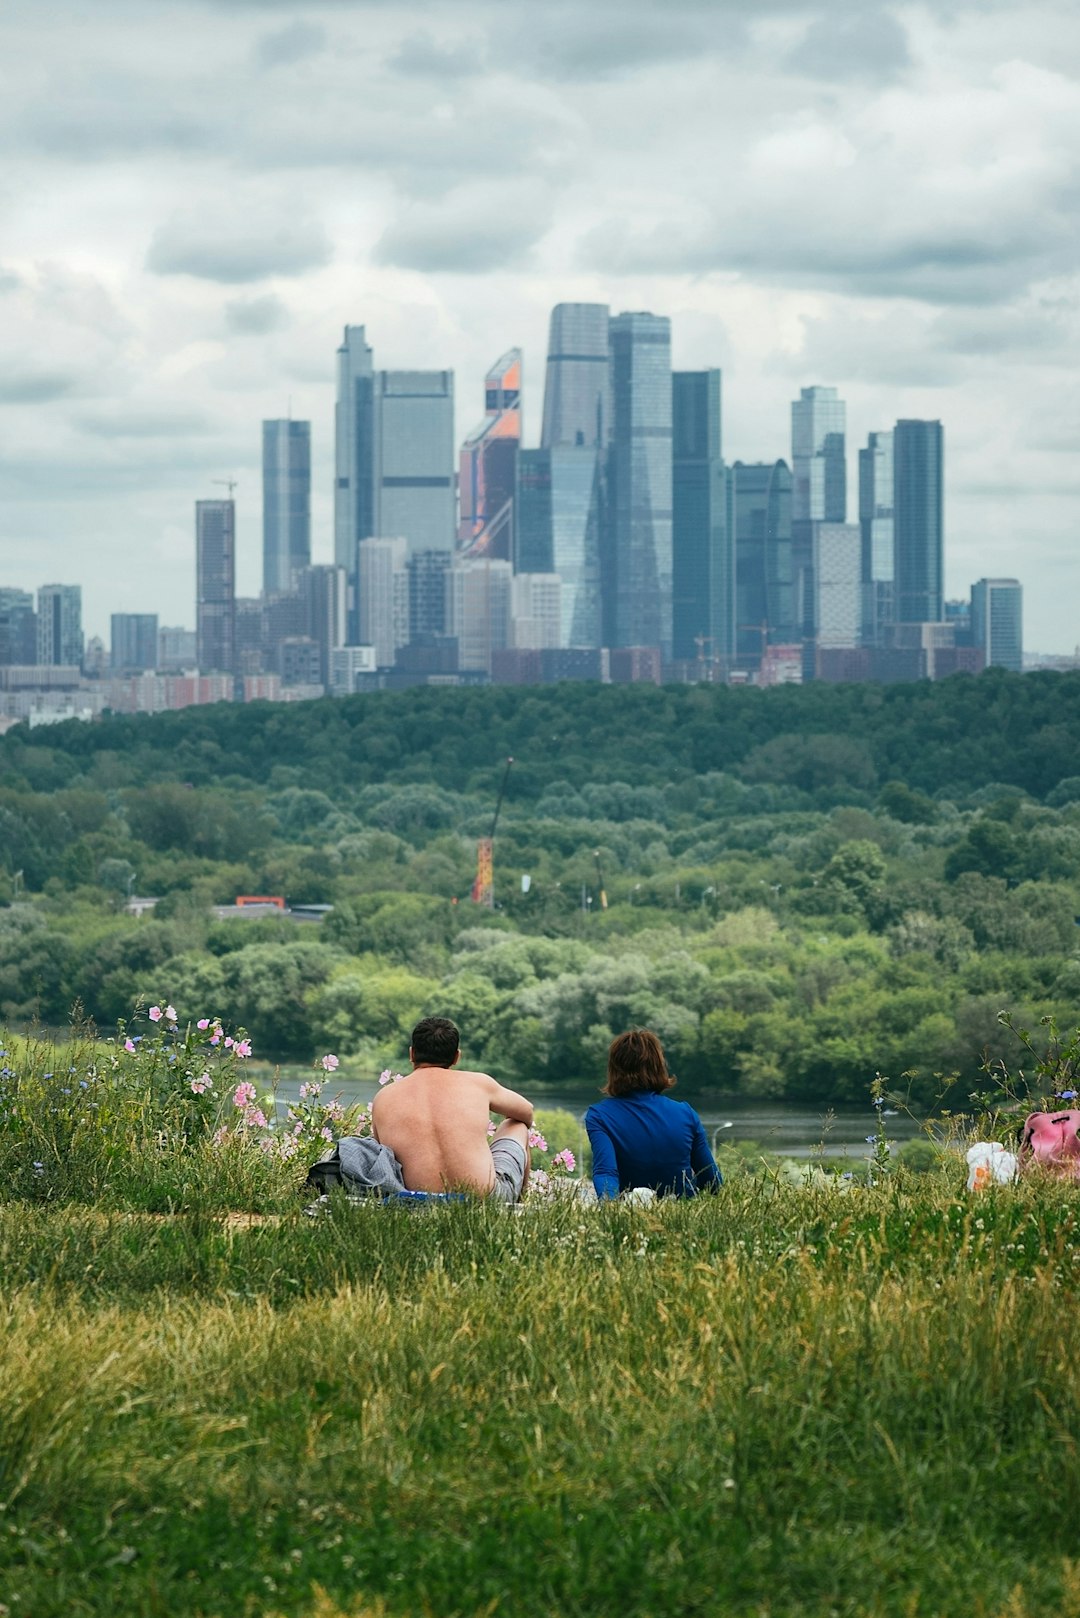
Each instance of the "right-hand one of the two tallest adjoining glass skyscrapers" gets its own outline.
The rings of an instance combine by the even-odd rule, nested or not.
[[[601,547],[607,646],[672,655],[672,330],[667,316],[610,320],[612,443]]]

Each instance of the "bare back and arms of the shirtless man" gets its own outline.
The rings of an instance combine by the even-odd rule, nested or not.
[[[533,1105],[487,1073],[419,1063],[406,1078],[379,1091],[371,1126],[376,1139],[398,1158],[410,1191],[478,1191],[486,1196],[495,1184],[487,1141],[492,1112],[507,1120],[495,1131],[495,1139],[518,1141],[528,1163]]]

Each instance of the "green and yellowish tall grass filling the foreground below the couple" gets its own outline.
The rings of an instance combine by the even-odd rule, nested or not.
[[[0,1209],[0,1602],[1077,1613],[1074,1199]]]

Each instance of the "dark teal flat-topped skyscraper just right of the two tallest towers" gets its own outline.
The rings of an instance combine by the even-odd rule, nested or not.
[[[672,375],[672,654],[735,655],[735,545],[721,458],[721,372]]]

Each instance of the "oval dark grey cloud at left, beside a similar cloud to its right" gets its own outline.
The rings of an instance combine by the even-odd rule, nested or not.
[[[269,207],[249,210],[238,199],[235,210],[185,214],[160,225],[151,241],[146,267],[154,275],[193,275],[199,280],[241,285],[270,275],[303,275],[330,260],[330,243],[321,225]]]

